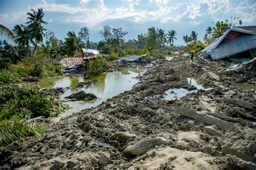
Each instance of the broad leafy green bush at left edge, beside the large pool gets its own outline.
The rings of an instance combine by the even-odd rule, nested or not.
[[[0,112],[0,121],[14,115],[23,117],[56,116],[65,109],[55,101],[52,90],[38,91],[24,87],[4,86],[0,92],[0,104],[8,107]]]

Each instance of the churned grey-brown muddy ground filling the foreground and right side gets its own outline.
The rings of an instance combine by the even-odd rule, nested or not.
[[[225,62],[159,62],[132,90],[51,123],[38,138],[1,148],[6,169],[256,169],[255,67]],[[197,93],[165,100],[166,90]],[[227,97],[228,96],[228,97]]]

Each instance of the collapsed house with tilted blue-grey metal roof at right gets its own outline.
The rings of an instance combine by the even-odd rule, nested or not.
[[[256,57],[256,26],[231,27],[199,54],[212,60],[250,61]]]

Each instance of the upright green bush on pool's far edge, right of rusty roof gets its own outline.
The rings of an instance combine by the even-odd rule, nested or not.
[[[89,70],[87,70],[84,74],[85,77],[97,76],[104,72],[103,66],[105,62],[103,60],[103,56],[98,55],[96,60],[89,61]]]

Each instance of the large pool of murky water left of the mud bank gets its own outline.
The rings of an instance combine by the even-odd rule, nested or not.
[[[84,110],[86,108],[96,107],[103,101],[106,101],[107,98],[111,98],[120,93],[123,93],[125,90],[131,90],[132,86],[138,82],[134,77],[138,76],[138,72],[134,72],[129,70],[130,74],[122,74],[121,72],[111,72],[105,73],[103,75],[92,77],[91,79],[97,79],[99,82],[93,84],[90,88],[73,88],[66,90],[63,95],[60,96],[60,100],[66,101],[64,97],[71,95],[72,93],[77,93],[78,91],[84,90],[85,93],[95,94],[98,98],[96,101],[84,102],[84,101],[66,101],[63,102],[68,104],[70,109],[64,112],[64,115],[71,115],[73,112],[78,112]],[[47,84],[46,82],[42,82],[40,84],[41,87],[70,87],[75,86],[81,81],[89,81],[84,80],[82,76],[76,76],[73,78],[70,77],[59,77],[54,80],[53,84]],[[63,116],[64,116],[63,115]]]

